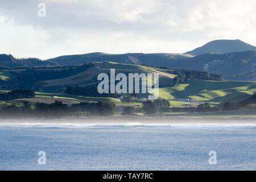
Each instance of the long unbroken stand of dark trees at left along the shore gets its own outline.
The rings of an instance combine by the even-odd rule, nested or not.
[[[68,106],[60,101],[52,104],[36,103],[35,108],[29,102],[24,101],[23,106],[9,105],[0,110],[1,117],[39,117],[60,118],[73,113],[84,112],[86,115],[113,115],[115,105],[112,102],[81,102]]]

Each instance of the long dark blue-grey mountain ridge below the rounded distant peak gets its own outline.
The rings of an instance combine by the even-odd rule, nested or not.
[[[255,51],[224,54],[206,53],[195,57],[168,53],[126,53],[122,55],[89,53],[85,55],[60,56],[47,61],[55,61],[60,65],[112,61],[125,64],[144,64],[153,67],[165,66],[171,69],[190,68],[221,74],[225,79],[229,80],[249,80],[256,77]]]

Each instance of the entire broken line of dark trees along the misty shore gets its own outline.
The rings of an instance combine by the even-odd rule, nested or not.
[[[248,107],[249,101],[255,103],[256,95],[251,96],[246,101],[238,102],[225,102],[223,105],[224,111],[241,109],[242,105]],[[250,104],[252,105],[252,104]],[[79,104],[72,104],[68,106],[60,101],[55,101],[52,104],[36,103],[32,109],[29,102],[24,101],[23,106],[9,105],[4,106],[0,110],[1,117],[39,117],[39,118],[60,118],[73,114],[83,113],[85,115],[113,115],[115,113],[115,104],[112,102],[80,102]],[[255,104],[254,104],[254,107]],[[217,107],[210,107],[206,102],[199,104],[197,107],[170,108],[170,102],[167,100],[154,100],[142,102],[142,107],[138,109],[145,114],[158,114],[165,112],[210,112],[218,111]],[[123,109],[123,115],[132,115],[134,113],[134,107],[128,106]]]

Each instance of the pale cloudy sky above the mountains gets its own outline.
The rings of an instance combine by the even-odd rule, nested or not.
[[[255,0],[0,0],[0,53],[14,57],[184,53],[216,39],[256,46],[255,30]]]

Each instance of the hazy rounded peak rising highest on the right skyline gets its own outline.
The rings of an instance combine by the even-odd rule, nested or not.
[[[242,42],[241,40],[213,40],[212,42],[193,49],[193,51],[188,51],[185,54],[198,56],[205,53],[222,54],[243,51],[256,51],[256,47]]]

